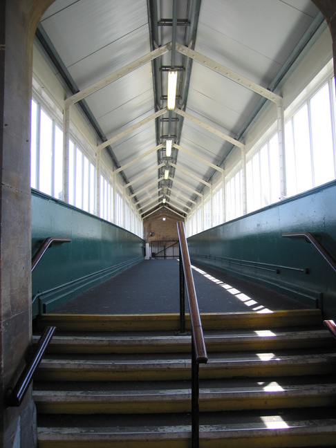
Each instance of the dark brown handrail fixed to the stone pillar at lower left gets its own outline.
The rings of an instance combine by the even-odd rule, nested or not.
[[[49,342],[51,341],[55,330],[56,327],[54,326],[46,327],[44,329],[44,333],[41,335],[39,342],[37,343],[37,347],[35,348],[35,351],[30,358],[30,361],[26,364],[19,377],[19,380],[17,380],[17,384],[15,384],[13,388],[9,388],[7,391],[7,406],[19,406],[22,400],[24,400],[24,396],[26,395],[28,387],[32,382],[32,376],[34,375],[35,370],[44,357],[44,353],[48,348]]]

